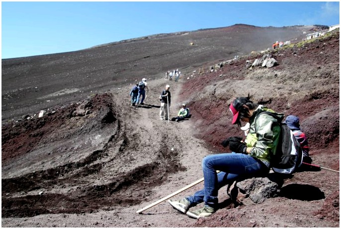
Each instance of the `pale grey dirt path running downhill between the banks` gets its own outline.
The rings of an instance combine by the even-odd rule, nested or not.
[[[107,207],[107,210],[110,211],[101,210],[101,208],[99,208],[98,212],[91,214],[80,212],[80,214],[42,214],[30,218],[2,218],[2,226],[186,227],[188,224],[191,225],[194,223],[195,221],[193,221],[193,219],[187,219],[187,217],[180,222],[175,223],[174,219],[178,217],[178,213],[174,212],[167,202],[161,203],[150,210],[146,210],[143,214],[136,214],[137,210],[202,178],[201,160],[207,155],[207,149],[204,147],[204,142],[202,140],[193,137],[193,128],[191,128],[191,126],[195,122],[195,117],[181,122],[168,122],[166,120],[160,120],[159,118],[160,102],[158,97],[166,84],[171,85],[172,102],[170,117],[175,116],[181,107],[180,105],[183,103],[182,101],[179,101],[178,98],[178,94],[181,91],[181,83],[165,81],[164,79],[148,82],[150,91],[146,99],[146,105],[137,107],[131,107],[129,104],[127,94],[129,93],[130,86],[121,90],[109,92],[113,94],[114,104],[121,111],[119,114],[121,123],[120,132],[123,132],[123,134],[120,133],[119,135],[126,135],[126,144],[128,145],[122,152],[123,155],[118,155],[116,151],[112,152],[116,155],[115,160],[107,159],[106,162],[103,163],[105,166],[102,166],[101,170],[98,171],[95,176],[91,176],[90,180],[84,178],[79,180],[83,185],[77,182],[75,184],[70,183],[67,185],[69,186],[69,189],[64,185],[64,188],[52,188],[50,191],[47,189],[39,189],[38,191],[30,192],[31,195],[37,196],[39,195],[39,192],[44,192],[44,194],[50,193],[50,195],[62,192],[68,195],[70,190],[77,190],[77,186],[79,185],[81,185],[80,187],[84,186],[84,188],[86,188],[91,187],[94,184],[105,184],[113,179],[108,175],[108,171],[111,171],[110,174],[128,174],[132,170],[138,169],[139,166],[150,164],[150,167],[152,167],[152,164],[158,160],[157,157],[160,157],[158,151],[161,152],[162,156],[166,157],[166,159],[161,160],[164,161],[161,163],[169,163],[168,160],[176,160],[177,162],[174,163],[174,166],[180,166],[180,168],[171,168],[165,165],[169,172],[163,172],[164,174],[160,177],[160,185],[150,184],[154,181],[143,181],[147,185],[147,188],[143,187],[143,190],[142,187],[135,187],[133,190],[128,188],[126,191],[121,191],[119,196],[117,196],[117,198],[122,199],[122,201],[129,202],[129,196],[137,195],[134,196],[133,199],[137,199],[138,202],[141,202],[140,204],[133,204],[130,206],[129,203],[127,203],[126,207],[121,207],[119,205],[110,207],[110,203],[107,203],[109,206]],[[118,144],[118,141],[115,144]],[[120,145],[122,145],[122,143],[120,143]],[[107,151],[109,153],[110,151],[113,151],[113,149]],[[168,152],[170,153],[168,154]],[[174,153],[171,154],[172,152]],[[59,163],[61,163],[61,161]],[[94,164],[94,162],[92,162],[92,164]],[[164,165],[157,164],[156,166],[163,167]],[[32,166],[30,169],[34,171]],[[174,173],[174,171],[178,172]],[[24,171],[24,169],[21,171],[23,174],[27,172],[28,171]],[[66,174],[64,176],[66,176]],[[148,188],[149,185],[150,188]],[[72,187],[74,187],[74,189]],[[202,188],[202,184],[198,184],[174,198],[182,198],[185,195],[194,193],[200,188]],[[22,194],[12,195],[19,198],[20,196],[24,197]],[[122,197],[124,195],[126,196]],[[127,200],[124,200],[125,198],[127,198]]]

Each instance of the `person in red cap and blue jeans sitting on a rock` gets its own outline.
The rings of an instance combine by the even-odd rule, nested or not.
[[[209,217],[218,208],[218,190],[237,179],[264,176],[269,172],[270,155],[277,148],[280,126],[277,119],[263,111],[274,113],[283,118],[283,114],[254,104],[250,98],[239,97],[230,104],[233,114],[232,124],[241,126],[241,120],[250,122],[250,130],[245,142],[241,137],[229,137],[222,142],[229,146],[232,153],[208,155],[202,160],[204,189],[179,201],[169,200],[171,206],[192,218]],[[257,117],[257,118],[256,118]],[[256,119],[256,121],[255,121]],[[216,173],[216,170],[221,172]],[[204,202],[203,208],[189,211],[189,208]]]

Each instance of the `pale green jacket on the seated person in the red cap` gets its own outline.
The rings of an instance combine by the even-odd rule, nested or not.
[[[280,126],[277,120],[271,115],[259,114],[265,111],[275,113],[274,111],[259,105],[254,114],[250,117],[250,129],[245,142],[248,147],[253,147],[250,152],[251,156],[270,162],[271,156],[273,155],[273,152],[276,152],[278,145]],[[283,114],[275,114],[281,119],[284,117]],[[258,116],[257,119],[256,116]]]

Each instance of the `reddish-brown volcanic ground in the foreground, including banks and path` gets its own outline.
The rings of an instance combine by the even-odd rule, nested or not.
[[[192,73],[198,69],[188,68],[185,73],[190,79],[183,77],[180,82],[165,81],[160,73],[154,80],[148,78],[146,105],[138,107],[129,105],[134,82],[121,82],[119,89],[88,93],[85,98],[75,93],[52,96],[38,87],[35,97],[49,94],[44,100],[56,105],[51,104],[42,118],[27,119],[20,117],[23,111],[33,116],[46,103],[20,102],[33,95],[34,87],[6,89],[2,93],[1,225],[339,228],[340,174],[326,169],[295,173],[285,180],[278,197],[257,205],[234,206],[223,187],[220,209],[208,219],[188,218],[167,202],[135,213],[200,179],[202,158],[225,151],[220,142],[226,137],[242,135],[231,124],[228,105],[234,97],[249,93],[256,103],[298,115],[313,163],[339,171],[339,36],[336,32],[304,46],[274,51],[279,65],[269,69],[245,68],[246,60],[262,56],[254,54],[214,72],[208,71],[210,64],[198,65],[205,69],[200,75]],[[6,66],[2,73],[8,74],[18,65]],[[165,84],[171,85],[171,116],[185,102],[192,113],[189,120],[159,119],[158,96]],[[74,95],[78,99],[72,99]],[[31,109],[37,110],[31,113]],[[79,109],[87,113],[77,115]],[[19,117],[21,121],[16,121]],[[173,199],[201,188],[198,184]]]

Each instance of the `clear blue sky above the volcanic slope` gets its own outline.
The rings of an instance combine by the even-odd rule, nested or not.
[[[340,23],[340,2],[2,1],[1,58],[76,51],[146,35],[237,23],[331,26]]]

